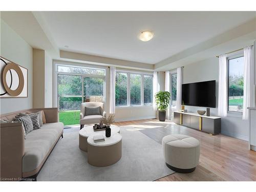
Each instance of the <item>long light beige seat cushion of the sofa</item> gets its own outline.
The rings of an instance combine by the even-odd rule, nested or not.
[[[63,132],[63,123],[46,123],[26,136],[23,173],[36,169]]]

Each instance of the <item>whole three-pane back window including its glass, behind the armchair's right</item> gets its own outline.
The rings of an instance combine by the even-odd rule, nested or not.
[[[116,72],[116,106],[152,105],[153,75]]]

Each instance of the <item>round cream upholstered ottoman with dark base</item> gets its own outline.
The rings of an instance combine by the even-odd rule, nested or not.
[[[200,157],[200,142],[187,135],[167,135],[162,139],[166,165],[178,173],[191,173]]]

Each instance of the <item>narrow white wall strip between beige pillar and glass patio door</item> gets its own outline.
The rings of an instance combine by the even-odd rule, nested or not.
[[[52,108],[53,106],[52,67],[52,58],[47,52],[45,52],[45,108]]]

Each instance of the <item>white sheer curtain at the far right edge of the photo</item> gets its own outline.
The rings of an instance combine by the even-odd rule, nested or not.
[[[253,86],[254,86],[254,58],[253,46],[244,48],[244,105],[243,119],[249,117],[248,107],[253,106]]]

